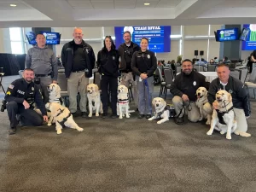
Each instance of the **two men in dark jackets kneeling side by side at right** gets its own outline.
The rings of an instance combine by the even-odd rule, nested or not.
[[[239,79],[230,76],[230,68],[222,63],[217,67],[218,78],[212,80],[209,84],[206,77],[193,70],[193,64],[190,60],[184,60],[182,63],[182,73],[178,74],[171,85],[173,106],[177,114],[177,123],[183,123],[183,115],[186,111],[188,119],[191,122],[197,122],[200,119],[200,109],[195,105],[195,92],[199,87],[206,87],[208,90],[208,102],[205,110],[211,112],[212,108],[217,108],[215,94],[218,90],[227,90],[231,96],[236,114],[237,130],[247,132],[247,119],[251,115],[250,102],[247,90]],[[186,108],[184,111],[183,108]]]

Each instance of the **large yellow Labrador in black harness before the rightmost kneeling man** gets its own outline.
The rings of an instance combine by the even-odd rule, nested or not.
[[[226,90],[218,90],[215,98],[218,107],[213,109],[211,128],[207,131],[207,135],[212,135],[213,130],[216,129],[220,131],[220,134],[226,133],[227,139],[231,139],[233,132],[241,137],[250,137],[251,134],[247,132],[236,131],[237,122],[230,93]]]

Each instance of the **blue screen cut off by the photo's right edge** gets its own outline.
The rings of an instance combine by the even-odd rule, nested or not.
[[[241,43],[242,50],[255,50],[256,49],[256,24],[244,24],[243,28],[247,32],[247,36]],[[241,35],[242,36],[242,35]]]

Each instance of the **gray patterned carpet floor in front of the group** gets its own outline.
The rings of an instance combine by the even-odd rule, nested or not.
[[[5,88],[16,77],[4,77]],[[9,136],[7,113],[0,113],[0,191],[256,191],[255,106],[248,119],[252,137],[232,140],[215,131],[207,136],[204,122],[157,125],[136,113],[79,117],[83,132],[65,128],[56,135],[54,126],[41,126]]]

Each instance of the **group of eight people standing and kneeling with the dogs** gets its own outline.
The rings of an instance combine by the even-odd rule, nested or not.
[[[140,46],[131,41],[131,33],[124,32],[124,44],[116,49],[110,36],[104,38],[104,46],[97,54],[97,67],[102,75],[102,118],[108,116],[108,103],[112,109],[112,118],[117,117],[116,103],[119,71],[121,72],[121,84],[129,86],[133,84],[135,103],[138,108],[138,118],[151,117],[152,93],[154,92],[154,72],[157,67],[154,52],[148,50],[148,39],[142,38]],[[44,103],[49,101],[47,86],[57,83],[58,62],[52,49],[45,44],[43,34],[38,34],[37,45],[29,49],[26,55],[26,70],[23,78],[12,82],[7,90],[5,100],[10,120],[9,134],[15,134],[20,121],[23,125],[42,125],[43,120],[48,121]],[[92,77],[92,69],[95,67],[96,56],[94,50],[83,40],[81,28],[73,30],[73,41],[65,44],[61,51],[61,61],[67,77],[67,91],[69,96],[69,110],[73,116],[77,116],[77,96],[79,93],[79,108],[82,117],[87,117],[86,87]],[[182,121],[183,106],[189,106],[188,118],[192,122],[198,121],[199,109],[195,106],[195,91],[198,87],[209,88],[209,103],[214,101],[218,90],[228,90],[234,101],[238,128],[247,131],[246,119],[250,116],[250,103],[243,84],[229,76],[229,67],[225,64],[218,65],[218,79],[208,84],[205,76],[193,70],[193,61],[182,62],[182,73],[178,74],[171,85],[172,99],[177,121]],[[110,93],[110,98],[109,98]],[[43,97],[41,96],[43,95]],[[44,100],[43,100],[44,98]],[[40,109],[42,115],[33,110],[34,103]],[[214,104],[213,104],[214,107]],[[209,107],[211,108],[211,106]],[[181,112],[181,113],[180,113]],[[18,117],[18,119],[17,119]]]

